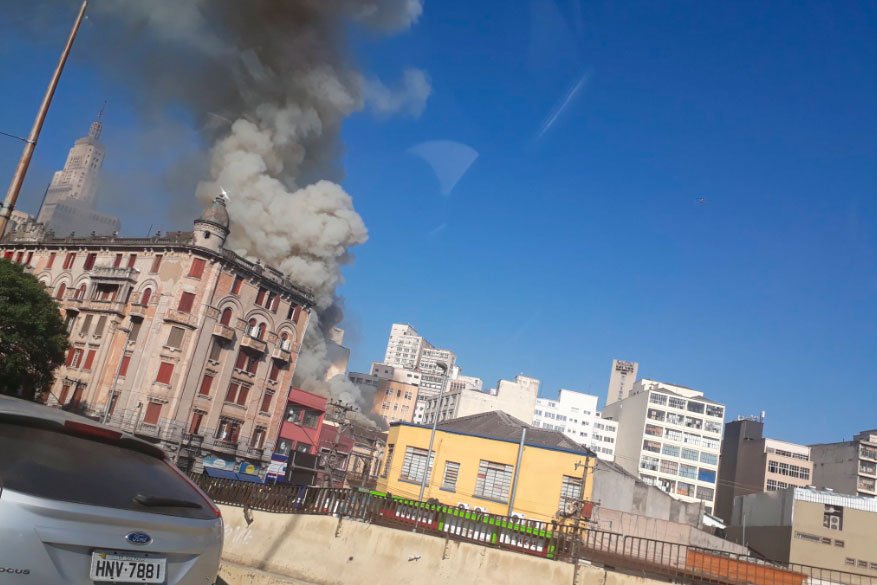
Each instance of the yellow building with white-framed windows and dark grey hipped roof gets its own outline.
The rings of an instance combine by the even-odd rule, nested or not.
[[[427,471],[430,433],[428,426],[390,425],[379,490],[416,500],[426,472],[424,500],[543,522],[573,516],[590,499],[596,456],[563,433],[501,411],[445,421],[436,430],[435,465]]]

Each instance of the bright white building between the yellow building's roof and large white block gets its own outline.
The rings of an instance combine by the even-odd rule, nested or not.
[[[539,398],[533,426],[560,431],[576,443],[590,447],[600,459],[612,461],[618,423],[601,418],[597,411],[598,400],[596,396],[573,390],[561,390],[557,400]]]

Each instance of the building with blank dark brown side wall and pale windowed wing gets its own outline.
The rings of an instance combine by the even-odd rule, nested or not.
[[[716,490],[716,516],[731,520],[738,496],[811,484],[810,447],[764,437],[763,417],[725,424]]]

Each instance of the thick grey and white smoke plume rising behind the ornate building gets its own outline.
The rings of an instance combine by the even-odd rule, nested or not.
[[[150,119],[183,109],[202,129],[210,176],[197,195],[206,204],[219,185],[230,193],[228,246],[314,292],[297,384],[369,406],[345,378],[324,381],[341,267],[368,237],[338,184],[339,133],[359,110],[418,115],[430,84],[416,69],[389,84],[363,75],[345,31],[404,30],[422,0],[104,0],[91,10],[85,58],[131,84]]]

